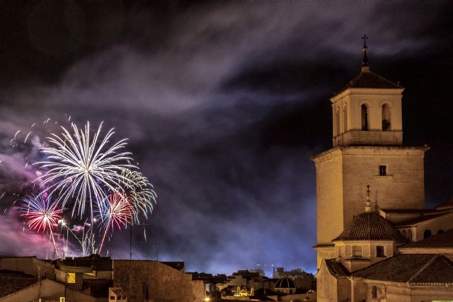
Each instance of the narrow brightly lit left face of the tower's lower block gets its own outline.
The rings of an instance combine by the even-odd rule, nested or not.
[[[343,230],[342,158],[336,150],[315,159],[317,242],[329,244]]]

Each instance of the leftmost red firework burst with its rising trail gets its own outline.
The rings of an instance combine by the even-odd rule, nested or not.
[[[50,240],[55,248],[57,257],[59,257],[59,248],[55,243],[54,233],[52,228],[57,226],[62,214],[62,209],[58,208],[57,202],[50,202],[50,198],[40,195],[29,195],[23,197],[25,203],[21,209],[21,216],[27,220],[27,226],[32,230],[37,230],[38,233],[42,230],[50,234]]]

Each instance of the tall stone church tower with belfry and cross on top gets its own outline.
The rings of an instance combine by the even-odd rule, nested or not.
[[[366,40],[363,52],[360,74],[331,98],[333,148],[311,158],[318,268],[335,257],[331,240],[363,212],[367,185],[374,209],[425,207],[423,158],[429,148],[403,145],[404,88],[369,69]]]

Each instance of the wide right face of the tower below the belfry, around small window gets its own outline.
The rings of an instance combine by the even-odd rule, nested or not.
[[[372,206],[388,209],[423,209],[425,206],[424,149],[345,147],[343,158],[343,226],[365,210],[367,185]],[[387,175],[379,176],[379,165]],[[338,233],[343,230],[340,228]]]

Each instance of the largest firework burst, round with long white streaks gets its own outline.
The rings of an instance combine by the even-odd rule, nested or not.
[[[131,153],[122,151],[126,140],[122,139],[108,147],[109,139],[115,132],[110,129],[101,139],[101,128],[102,123],[91,139],[89,122],[84,130],[79,130],[76,124],[71,123],[72,134],[61,127],[61,137],[51,134],[47,138],[50,146],[41,148],[41,152],[51,161],[36,163],[40,168],[48,169],[36,179],[41,181],[42,186],[47,186],[43,192],[50,195],[58,192],[56,200],[61,201],[63,207],[69,199],[75,197],[80,216],[84,214],[85,202],[88,200],[91,219],[93,199],[96,199],[98,208],[102,209],[100,201],[106,197],[105,191],[117,192],[117,187],[131,187],[131,182],[123,175],[127,170],[137,169],[129,163],[132,160]],[[75,209],[73,207],[72,216]]]

